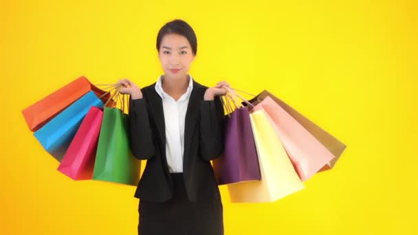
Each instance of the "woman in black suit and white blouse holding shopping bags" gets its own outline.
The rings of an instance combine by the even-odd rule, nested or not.
[[[146,159],[135,196],[138,234],[223,234],[223,205],[210,160],[223,153],[225,81],[205,87],[188,74],[197,54],[192,27],[179,19],[157,35],[164,75],[140,89],[118,81],[129,99],[129,135]]]

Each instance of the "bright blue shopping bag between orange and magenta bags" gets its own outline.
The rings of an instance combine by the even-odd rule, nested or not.
[[[93,91],[87,92],[76,102],[69,105],[67,109],[56,115],[50,122],[47,122],[34,133],[34,137],[38,139],[48,153],[61,162],[91,106],[103,107],[102,100]]]

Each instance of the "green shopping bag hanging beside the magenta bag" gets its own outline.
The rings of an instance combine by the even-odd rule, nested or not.
[[[129,147],[127,114],[118,108],[104,107],[93,179],[137,186],[141,161]]]

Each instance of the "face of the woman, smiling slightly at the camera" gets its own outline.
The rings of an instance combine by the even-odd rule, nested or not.
[[[165,77],[185,78],[190,64],[195,59],[192,47],[185,36],[166,34],[162,38],[158,54]]]

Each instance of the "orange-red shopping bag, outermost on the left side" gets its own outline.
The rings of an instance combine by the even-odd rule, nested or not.
[[[57,91],[54,91],[54,93],[30,105],[30,107],[23,109],[22,114],[25,117],[30,131],[38,131],[39,128],[52,120],[58,113],[89,91],[93,91],[98,97],[106,92],[91,84],[85,76],[81,76]],[[110,94],[107,94],[102,96],[101,100],[106,102],[109,100],[109,97]],[[108,102],[107,106],[114,107],[113,100]]]

